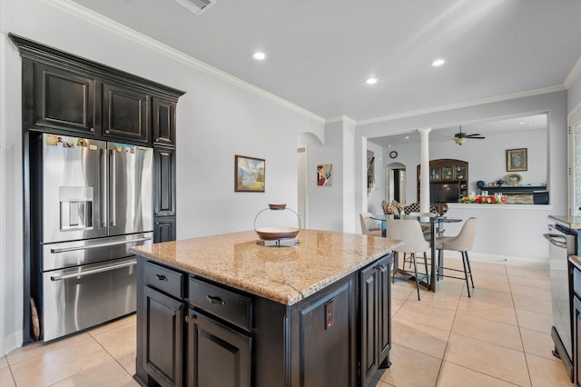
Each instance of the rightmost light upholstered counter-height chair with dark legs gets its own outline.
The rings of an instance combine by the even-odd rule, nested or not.
[[[472,288],[474,288],[474,279],[472,278],[472,269],[470,268],[470,260],[468,259],[468,251],[472,250],[474,246],[474,240],[476,239],[476,225],[477,219],[475,217],[468,218],[466,223],[462,226],[462,229],[456,236],[441,236],[436,239],[436,250],[438,250],[438,267],[436,277],[448,277],[456,278],[458,280],[466,281],[466,288],[468,289],[468,297],[470,297],[470,284],[468,283],[468,277],[470,278],[470,283],[472,283]],[[460,252],[462,254],[462,266],[464,267],[464,278],[445,275],[444,271],[462,272],[460,269],[454,269],[444,266],[444,250]]]

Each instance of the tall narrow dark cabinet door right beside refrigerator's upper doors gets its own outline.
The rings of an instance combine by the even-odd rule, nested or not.
[[[153,215],[175,215],[175,149],[153,148]]]

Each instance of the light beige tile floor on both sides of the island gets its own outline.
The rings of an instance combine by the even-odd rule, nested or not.
[[[448,259],[447,264],[459,260]],[[446,278],[438,293],[415,283],[392,289],[388,370],[372,384],[388,386],[571,387],[551,351],[547,271],[472,262],[476,288]],[[0,358],[0,386],[136,386],[135,316]]]

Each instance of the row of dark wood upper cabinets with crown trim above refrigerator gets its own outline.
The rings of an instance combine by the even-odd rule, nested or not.
[[[22,36],[9,37],[23,57],[25,131],[175,146],[182,91]]]

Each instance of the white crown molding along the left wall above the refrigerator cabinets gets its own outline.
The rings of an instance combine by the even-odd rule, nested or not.
[[[111,31],[114,34],[122,35],[126,39],[136,44],[143,45],[147,48],[152,49],[153,51],[157,51],[162,55],[169,56],[172,59],[184,65],[189,65],[195,68],[196,70],[200,70],[206,74],[211,74],[212,76],[221,79],[222,81],[234,84],[240,87],[241,89],[251,92],[252,94],[257,94],[262,98],[269,100],[275,104],[279,104],[291,111],[294,111],[295,113],[304,115],[320,123],[325,122],[325,119],[318,114],[314,114],[307,109],[304,109],[296,104],[292,104],[291,102],[282,99],[281,97],[275,94],[271,94],[261,89],[260,87],[242,81],[240,78],[237,78],[231,74],[223,72],[222,70],[213,67],[212,65],[208,65],[190,55],[185,55],[181,51],[176,50],[170,47],[169,45],[163,45],[162,43],[154,40],[149,36],[138,33],[137,31],[127,27],[126,25],[122,25],[121,23],[117,23],[114,20],[109,19],[103,15],[97,14],[96,12],[82,5],[78,5],[71,0],[43,0],[43,1],[48,5],[53,5],[54,7],[59,8],[71,15],[75,15],[94,25],[98,25],[99,27]]]

